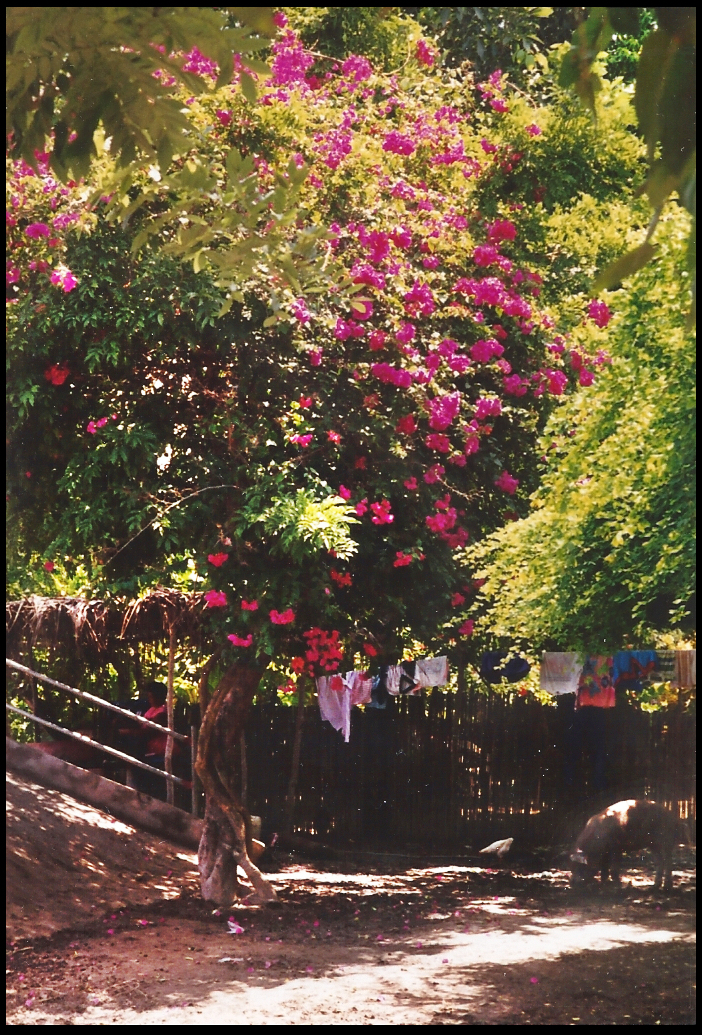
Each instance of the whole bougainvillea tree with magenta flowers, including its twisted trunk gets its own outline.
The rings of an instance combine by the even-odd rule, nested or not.
[[[27,554],[80,558],[97,590],[204,591],[222,662],[201,869],[222,900],[235,856],[267,893],[216,753],[270,661],[292,684],[416,642],[463,651],[463,551],[525,509],[550,404],[606,361],[559,333],[553,260],[525,240],[553,218],[573,250],[562,203],[582,199],[563,188],[549,210],[536,179],[559,116],[499,71],[477,89],[444,77],[419,37],[400,78],[324,61],[284,21],[256,106],[229,87],[183,98],[186,147],[136,183],[134,226],[89,204],[94,182],[24,164],[9,178],[10,520]],[[619,193],[626,140],[607,170]],[[275,202],[293,182],[294,219]],[[266,263],[276,220],[286,277]],[[159,248],[130,252],[135,234]],[[223,254],[252,242],[242,277]],[[560,297],[566,324],[606,318],[573,280]]]

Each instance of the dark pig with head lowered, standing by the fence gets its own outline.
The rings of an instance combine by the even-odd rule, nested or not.
[[[622,852],[649,848],[655,860],[655,884],[670,889],[673,884],[673,847],[677,844],[678,821],[663,805],[654,801],[618,801],[603,812],[592,816],[582,830],[571,854],[575,887],[591,881],[597,871],[602,882],[610,870],[619,881]]]

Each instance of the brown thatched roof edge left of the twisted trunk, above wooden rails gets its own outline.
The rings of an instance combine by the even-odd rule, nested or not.
[[[204,595],[152,590],[138,600],[30,596],[5,604],[7,656],[20,660],[35,646],[64,649],[85,660],[107,660],[124,644],[202,640]]]

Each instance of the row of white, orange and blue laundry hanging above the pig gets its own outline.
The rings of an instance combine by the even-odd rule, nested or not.
[[[578,708],[613,708],[616,690],[640,691],[653,683],[692,689],[697,685],[697,651],[546,652],[539,669],[540,688],[554,696],[577,693]]]

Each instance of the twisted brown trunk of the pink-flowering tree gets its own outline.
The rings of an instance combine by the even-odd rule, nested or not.
[[[203,715],[198,742],[196,769],[205,790],[205,823],[198,868],[202,896],[217,906],[230,906],[240,892],[236,877],[241,866],[254,885],[250,901],[272,901],[276,895],[270,884],[251,861],[251,821],[231,781],[224,775],[226,759],[218,757],[218,741],[236,744],[243,731],[251,702],[256,693],[265,666],[235,664],[224,674]],[[217,736],[226,718],[224,737]]]

